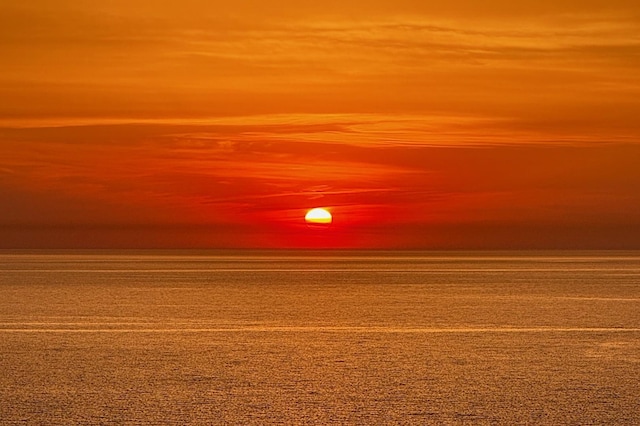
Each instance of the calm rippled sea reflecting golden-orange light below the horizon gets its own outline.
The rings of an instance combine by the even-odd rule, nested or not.
[[[640,252],[0,252],[0,423],[640,424]]]

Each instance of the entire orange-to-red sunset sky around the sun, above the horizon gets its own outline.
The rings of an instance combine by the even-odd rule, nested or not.
[[[637,249],[638,70],[636,0],[5,1],[0,248]]]

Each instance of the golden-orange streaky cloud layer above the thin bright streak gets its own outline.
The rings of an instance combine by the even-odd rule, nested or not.
[[[640,90],[637,7],[626,2],[580,11],[405,2],[394,13],[383,3],[327,5],[334,13],[285,3],[281,14],[255,2],[195,2],[198,14],[171,3],[5,5],[0,114],[523,116],[540,104],[595,108],[603,94],[631,101]],[[351,9],[359,13],[340,13]]]

